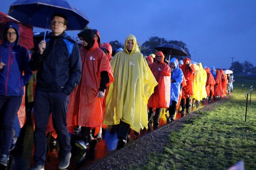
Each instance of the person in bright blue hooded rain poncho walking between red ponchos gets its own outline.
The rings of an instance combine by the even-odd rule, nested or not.
[[[174,121],[174,115],[176,113],[177,103],[179,102],[179,95],[181,91],[181,83],[183,81],[183,72],[179,68],[176,58],[170,60],[171,67],[171,94],[169,104],[169,118],[167,121]]]

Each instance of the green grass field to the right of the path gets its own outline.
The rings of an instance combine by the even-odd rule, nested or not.
[[[227,102],[211,112],[198,111],[202,116],[188,120],[179,132],[170,131],[165,152],[151,154],[140,169],[228,169],[240,160],[245,169],[256,169],[256,78],[234,80]],[[251,86],[245,122],[245,94]]]

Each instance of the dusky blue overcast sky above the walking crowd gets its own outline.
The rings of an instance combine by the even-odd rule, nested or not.
[[[101,43],[124,44],[129,34],[141,43],[158,36],[183,41],[192,60],[203,66],[228,69],[231,57],[256,66],[255,0],[67,1],[87,16],[89,28],[100,32]],[[13,2],[1,0],[0,11],[8,14]],[[73,37],[78,32],[67,33]]]

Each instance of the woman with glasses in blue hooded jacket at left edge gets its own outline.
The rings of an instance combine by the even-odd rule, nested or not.
[[[18,44],[19,37],[18,24],[7,22],[0,45],[0,164],[3,166],[7,166],[9,160],[13,123],[23,100],[24,86],[32,77],[30,56],[28,50]],[[25,112],[18,116],[23,116],[25,122]]]

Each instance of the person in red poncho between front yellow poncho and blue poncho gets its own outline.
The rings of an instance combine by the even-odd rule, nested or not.
[[[154,88],[154,93],[148,99],[148,120],[151,121],[154,116],[154,125],[159,124],[159,116],[161,108],[168,108],[170,104],[170,88],[171,88],[171,68],[163,62],[163,53],[158,51],[156,53],[156,62],[149,65],[158,85]],[[156,108],[156,113],[154,113]]]

